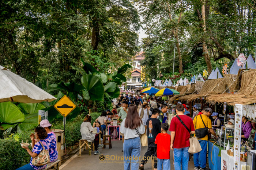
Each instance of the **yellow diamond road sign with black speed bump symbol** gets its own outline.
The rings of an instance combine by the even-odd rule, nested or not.
[[[72,110],[74,110],[74,108],[76,108],[76,105],[66,95],[64,95],[59,102],[54,104],[54,107],[61,115],[66,117]]]

